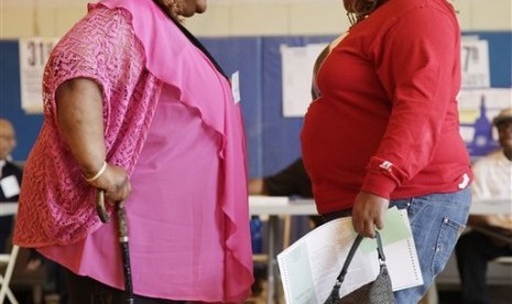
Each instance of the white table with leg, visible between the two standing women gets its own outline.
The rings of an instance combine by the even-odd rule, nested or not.
[[[279,217],[280,216],[309,216],[318,215],[315,200],[297,198],[293,199],[286,196],[249,196],[249,210],[251,215],[269,216],[268,226],[268,250],[269,261],[266,264],[268,271],[268,292],[266,303],[277,303],[273,301],[276,296],[275,292],[275,237],[280,234]]]

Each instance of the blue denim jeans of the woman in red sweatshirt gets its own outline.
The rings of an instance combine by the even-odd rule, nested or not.
[[[443,271],[466,227],[470,205],[469,187],[390,202],[390,207],[407,209],[423,273],[423,285],[394,292],[397,304],[417,303]]]

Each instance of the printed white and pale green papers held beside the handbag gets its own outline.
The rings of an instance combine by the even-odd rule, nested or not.
[[[423,284],[406,211],[389,209],[380,234],[393,290]],[[351,218],[339,218],[314,229],[277,254],[286,303],[324,303],[356,236]],[[340,296],[375,280],[379,274],[375,248],[374,239],[363,239],[348,268]]]

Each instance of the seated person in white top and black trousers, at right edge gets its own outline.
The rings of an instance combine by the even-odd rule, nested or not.
[[[501,148],[473,164],[473,200],[505,198],[512,202],[512,108],[502,110],[492,121]],[[487,286],[488,262],[512,256],[512,216],[470,215],[469,232],[456,246],[461,281],[461,302],[491,303]]]

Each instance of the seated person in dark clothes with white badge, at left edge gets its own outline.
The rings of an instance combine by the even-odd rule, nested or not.
[[[18,202],[22,170],[11,161],[11,152],[17,146],[17,137],[12,123],[0,118],[0,204]],[[14,216],[0,217],[0,252],[6,251],[11,235]]]

